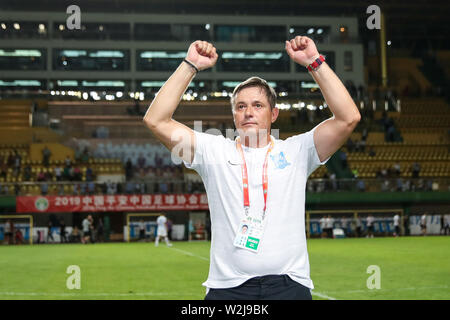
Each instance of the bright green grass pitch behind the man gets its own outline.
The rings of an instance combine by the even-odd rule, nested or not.
[[[0,246],[0,299],[202,300],[209,242]],[[311,239],[313,299],[450,299],[450,237]],[[69,265],[81,289],[68,289]],[[380,289],[368,289],[370,265]]]

